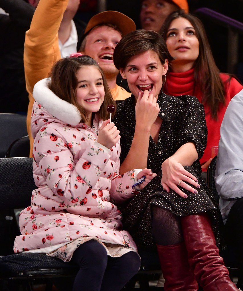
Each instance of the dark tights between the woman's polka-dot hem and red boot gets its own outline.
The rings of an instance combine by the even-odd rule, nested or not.
[[[181,219],[170,210],[152,204],[152,234],[155,243],[170,246],[183,241]]]

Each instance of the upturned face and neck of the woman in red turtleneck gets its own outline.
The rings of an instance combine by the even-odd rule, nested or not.
[[[199,41],[192,24],[186,18],[176,18],[171,22],[166,37],[168,50],[176,57],[172,71],[185,72],[193,68],[199,56]]]

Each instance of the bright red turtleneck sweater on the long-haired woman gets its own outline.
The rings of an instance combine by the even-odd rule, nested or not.
[[[195,88],[194,69],[182,73],[169,72],[166,76],[167,79],[163,89],[165,94],[172,96],[192,95],[196,96],[199,102],[202,103],[202,92]],[[220,126],[230,100],[243,89],[243,86],[235,78],[231,78],[231,80],[227,82],[229,75],[221,73],[220,77],[225,86],[225,106],[223,104],[219,105],[218,120],[214,120],[211,117],[209,107],[204,104],[208,139],[204,155],[202,156],[202,159],[200,159],[201,165],[211,158],[211,148],[218,145],[220,138]]]

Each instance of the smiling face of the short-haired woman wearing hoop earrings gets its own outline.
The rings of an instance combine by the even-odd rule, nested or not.
[[[158,54],[152,50],[143,52],[129,59],[126,67],[120,70],[132,94],[137,98],[138,93],[148,90],[154,97],[158,97],[166,74],[168,61],[161,64]]]

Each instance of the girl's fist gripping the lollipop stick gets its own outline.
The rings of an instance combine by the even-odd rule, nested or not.
[[[97,138],[97,142],[104,145],[106,148],[112,148],[120,139],[120,131],[115,126],[115,123],[109,122],[110,119],[102,123]]]

